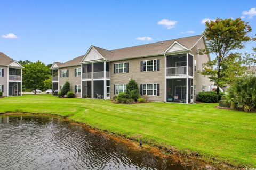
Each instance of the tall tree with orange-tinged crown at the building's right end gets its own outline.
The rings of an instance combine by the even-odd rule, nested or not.
[[[204,64],[201,72],[217,85],[217,94],[222,86],[229,84],[234,77],[243,74],[243,64],[247,58],[234,53],[243,49],[247,41],[252,40],[252,31],[248,22],[237,19],[219,19],[205,23],[204,37],[207,49],[199,50],[199,54],[214,54],[214,59]],[[243,69],[241,69],[243,68]]]

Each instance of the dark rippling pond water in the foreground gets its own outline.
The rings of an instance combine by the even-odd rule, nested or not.
[[[46,116],[0,116],[0,169],[194,169]]]

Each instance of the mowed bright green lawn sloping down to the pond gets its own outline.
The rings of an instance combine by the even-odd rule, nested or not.
[[[110,100],[25,95],[0,98],[0,113],[51,113],[181,151],[196,151],[234,165],[256,167],[256,113],[217,104],[114,104]]]

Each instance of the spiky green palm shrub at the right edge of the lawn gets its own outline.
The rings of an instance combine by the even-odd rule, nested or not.
[[[231,109],[243,109],[246,112],[256,109],[256,77],[238,78],[228,89],[224,102]]]

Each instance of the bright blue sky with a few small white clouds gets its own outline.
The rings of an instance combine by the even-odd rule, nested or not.
[[[0,1],[0,52],[65,62],[90,45],[117,49],[199,35],[202,20],[217,17],[243,16],[255,35],[255,8],[255,1]]]

